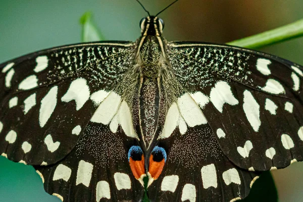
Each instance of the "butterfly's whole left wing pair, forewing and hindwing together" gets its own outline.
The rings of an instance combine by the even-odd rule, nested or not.
[[[67,201],[140,200],[125,154],[137,136],[117,90],[133,45],[76,44],[0,65],[0,154],[34,165]]]

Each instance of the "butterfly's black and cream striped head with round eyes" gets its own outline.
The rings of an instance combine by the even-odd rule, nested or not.
[[[161,18],[148,16],[140,21],[142,36],[161,36],[164,28],[164,22]]]

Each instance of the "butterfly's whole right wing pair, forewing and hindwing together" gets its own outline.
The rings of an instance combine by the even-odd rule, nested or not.
[[[206,43],[169,43],[168,56],[185,93],[157,140],[167,162],[153,201],[234,201],[259,171],[302,161],[301,66]]]

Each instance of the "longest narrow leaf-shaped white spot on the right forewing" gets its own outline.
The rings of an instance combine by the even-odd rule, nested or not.
[[[252,129],[258,132],[261,126],[260,106],[254,96],[252,96],[251,92],[249,92],[248,90],[245,90],[243,95],[243,110],[245,112],[245,116]]]

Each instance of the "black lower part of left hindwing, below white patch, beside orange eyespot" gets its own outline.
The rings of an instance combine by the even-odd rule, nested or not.
[[[131,173],[127,151],[136,145],[119,127],[89,122],[63,160],[35,166],[46,192],[63,201],[140,201],[144,188]]]

